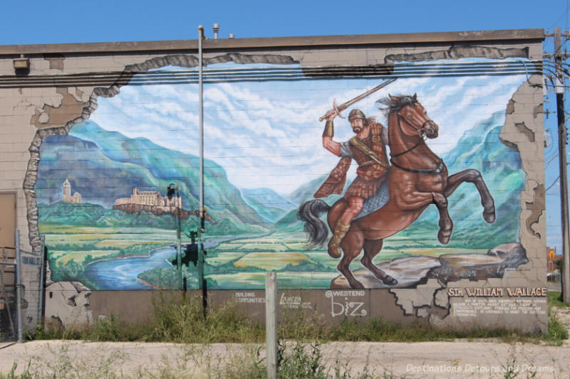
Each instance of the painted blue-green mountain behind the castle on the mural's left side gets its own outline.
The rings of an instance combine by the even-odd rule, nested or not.
[[[199,159],[148,139],[130,139],[86,120],[69,135],[46,137],[40,154],[35,186],[40,203],[60,201],[68,178],[72,192],[81,193],[83,201],[105,208],[117,198],[129,197],[133,188],[165,195],[170,183],[180,187],[185,209],[199,206]],[[229,212],[239,223],[264,223],[228,181],[222,166],[210,160],[204,160],[204,203],[211,215]]]

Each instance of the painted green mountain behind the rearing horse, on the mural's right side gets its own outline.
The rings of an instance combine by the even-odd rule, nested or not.
[[[509,149],[499,140],[504,124],[504,111],[493,114],[489,119],[467,130],[457,145],[442,159],[451,174],[477,169],[481,172],[491,192],[497,220],[493,224],[482,218],[482,206],[477,188],[471,183],[463,183],[449,198],[449,212],[454,221],[451,247],[494,247],[502,242],[519,240],[520,191],[524,189],[525,174],[517,151]],[[288,198],[294,203],[302,203],[313,198],[326,176],[316,178],[299,186]],[[348,185],[347,185],[348,186]],[[339,196],[323,199],[331,205]],[[294,212],[281,218],[277,228],[302,230],[302,225],[291,225]],[[410,241],[422,240],[423,244],[440,246],[437,242],[437,222],[439,213],[435,205],[425,210],[410,227],[398,233],[399,237]],[[429,242],[432,241],[433,243]],[[468,241],[468,242],[467,242]],[[427,245],[426,245],[427,246]]]

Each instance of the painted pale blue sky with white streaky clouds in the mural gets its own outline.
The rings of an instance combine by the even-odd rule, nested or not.
[[[436,154],[442,154],[467,129],[504,110],[524,79],[524,75],[400,78],[353,107],[384,124],[375,100],[388,93],[417,93],[442,128],[440,137],[428,142]],[[331,109],[334,99],[345,102],[381,82],[373,78],[207,84],[204,156],[223,166],[238,188],[290,193],[336,164],[336,157],[321,147],[323,123],[318,117]],[[127,137],[145,137],[197,155],[197,90],[197,85],[122,87],[115,97],[99,98],[90,119]],[[352,137],[348,121],[338,119],[336,125],[336,140]]]

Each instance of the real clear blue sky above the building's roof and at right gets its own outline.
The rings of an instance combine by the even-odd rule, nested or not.
[[[197,38],[197,26],[220,37],[318,36],[368,33],[473,31],[513,28],[563,30],[569,26],[569,0],[477,1],[3,1],[0,45]],[[552,50],[551,42],[545,48]],[[546,106],[555,111],[554,94]],[[557,154],[556,115],[546,161]],[[548,240],[559,245],[558,161],[546,170]]]

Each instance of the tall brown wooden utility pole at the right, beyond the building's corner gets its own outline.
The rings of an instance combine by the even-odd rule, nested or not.
[[[566,117],[564,115],[564,72],[562,63],[562,41],[560,28],[554,28],[554,64],[556,65],[556,114],[558,117],[558,156],[560,164],[560,205],[562,215],[562,299],[570,303],[570,249],[568,220],[568,178],[566,170]],[[565,58],[565,57],[564,57]]]

